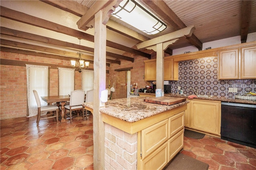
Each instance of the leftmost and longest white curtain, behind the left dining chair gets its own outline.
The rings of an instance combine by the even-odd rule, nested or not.
[[[33,90],[38,92],[41,106],[46,106],[40,96],[48,96],[48,66],[38,66],[26,64],[27,71],[27,96],[28,96],[28,112],[29,116],[32,117],[37,115],[38,108],[36,104],[36,98]],[[42,114],[46,114],[42,113]]]

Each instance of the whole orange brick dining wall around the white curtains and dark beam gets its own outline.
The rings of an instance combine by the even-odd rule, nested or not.
[[[1,51],[1,59],[28,61],[40,65],[70,66],[70,61]],[[92,66],[89,66],[92,68]],[[50,95],[58,95],[58,69],[50,68]],[[82,76],[75,72],[75,90],[82,88]],[[27,116],[26,66],[0,65],[0,120]]]

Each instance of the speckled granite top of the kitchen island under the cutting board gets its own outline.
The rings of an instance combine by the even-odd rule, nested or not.
[[[184,101],[167,106],[144,102],[145,98],[138,96],[136,98],[108,100],[105,107],[100,108],[100,112],[132,123],[189,103],[189,101]],[[86,102],[83,105],[93,109],[93,102]]]

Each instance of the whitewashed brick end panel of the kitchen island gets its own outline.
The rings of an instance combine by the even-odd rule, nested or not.
[[[137,133],[105,123],[105,169],[137,169]]]

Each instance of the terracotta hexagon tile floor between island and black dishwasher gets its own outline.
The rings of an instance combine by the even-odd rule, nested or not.
[[[182,154],[209,164],[208,170],[256,170],[256,149],[205,135],[184,137]]]

